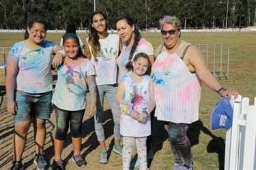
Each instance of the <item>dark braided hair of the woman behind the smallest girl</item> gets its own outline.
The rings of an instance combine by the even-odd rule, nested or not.
[[[121,16],[120,18],[117,19],[117,21],[115,23],[117,23],[119,20],[126,20],[127,24],[129,24],[130,27],[132,27],[132,25],[134,25],[134,31],[133,31],[135,34],[134,43],[132,45],[132,50],[130,50],[128,63],[126,63],[126,69],[128,69],[128,71],[130,71],[132,69],[132,56],[139,44],[139,41],[141,40],[141,33],[139,32],[139,28],[135,24],[134,19],[129,14]]]

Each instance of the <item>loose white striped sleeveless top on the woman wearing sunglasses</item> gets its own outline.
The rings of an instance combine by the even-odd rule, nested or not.
[[[199,119],[201,80],[176,53],[162,52],[152,67],[158,120],[192,123]]]

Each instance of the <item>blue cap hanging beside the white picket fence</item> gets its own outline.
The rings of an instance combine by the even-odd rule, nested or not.
[[[229,130],[232,126],[233,120],[233,108],[229,101],[229,97],[225,97],[218,101],[216,104],[212,116],[211,116],[211,126],[212,129],[224,128]]]

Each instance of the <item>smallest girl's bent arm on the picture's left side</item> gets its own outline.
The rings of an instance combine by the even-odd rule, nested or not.
[[[128,105],[128,103],[126,103],[126,101],[124,101],[124,90],[125,90],[125,86],[124,86],[124,80],[121,80],[121,82],[118,85],[117,88],[117,103],[119,104],[119,107],[121,107],[121,109],[128,114],[129,116],[131,116],[134,119],[137,119],[139,116],[139,112],[135,111],[132,109],[132,107],[130,105]]]

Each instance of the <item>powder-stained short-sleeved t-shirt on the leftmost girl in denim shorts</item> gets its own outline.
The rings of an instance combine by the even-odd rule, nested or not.
[[[46,40],[37,50],[27,48],[24,41],[14,44],[9,54],[18,58],[17,90],[32,94],[53,90],[51,62],[55,48],[55,43]]]

